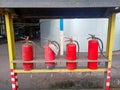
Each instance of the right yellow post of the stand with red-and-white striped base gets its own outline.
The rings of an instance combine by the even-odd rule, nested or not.
[[[108,38],[107,38],[107,52],[108,57],[108,70],[106,73],[105,86],[104,90],[110,90],[110,77],[111,77],[111,67],[112,67],[112,50],[113,50],[113,41],[114,41],[114,29],[115,29],[115,19],[116,14],[113,13],[109,18],[109,28],[108,28]]]

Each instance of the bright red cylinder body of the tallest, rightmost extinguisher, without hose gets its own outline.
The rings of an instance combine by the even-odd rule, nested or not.
[[[98,59],[98,41],[89,40],[88,41],[88,60],[97,60]],[[88,62],[89,69],[97,69],[97,62]]]

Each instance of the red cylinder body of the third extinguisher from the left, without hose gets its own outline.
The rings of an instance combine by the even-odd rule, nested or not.
[[[69,43],[66,45],[66,59],[67,60],[76,60],[76,44]],[[76,62],[67,62],[66,63],[67,69],[73,70],[76,69]]]

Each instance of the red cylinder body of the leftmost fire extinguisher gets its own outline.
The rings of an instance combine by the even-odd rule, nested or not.
[[[30,44],[22,45],[22,59],[24,61],[32,61],[33,60],[33,46]],[[23,63],[24,70],[33,69],[33,63]]]

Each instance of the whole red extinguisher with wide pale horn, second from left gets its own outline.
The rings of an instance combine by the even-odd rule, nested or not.
[[[56,41],[48,41],[44,46],[45,65],[47,69],[54,69],[56,63],[54,62],[56,55],[59,53],[60,47]]]

